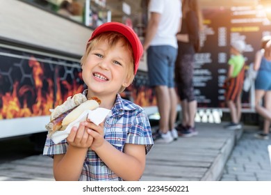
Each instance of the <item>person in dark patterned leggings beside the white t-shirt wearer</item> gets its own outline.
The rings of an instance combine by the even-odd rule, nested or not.
[[[193,72],[195,64],[195,45],[199,44],[199,31],[203,29],[202,12],[197,0],[183,0],[183,20],[178,40],[178,56],[175,65],[175,81],[181,100],[181,123],[176,127],[182,137],[197,135],[195,114],[197,100],[194,95]]]

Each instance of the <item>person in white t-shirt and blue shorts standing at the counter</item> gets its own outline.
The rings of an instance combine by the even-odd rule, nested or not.
[[[174,63],[177,54],[176,33],[181,26],[180,0],[151,0],[144,51],[147,51],[149,83],[154,87],[160,114],[157,143],[178,138],[174,129],[177,97],[174,89]]]

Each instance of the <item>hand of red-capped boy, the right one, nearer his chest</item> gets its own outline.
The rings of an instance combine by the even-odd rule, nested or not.
[[[87,120],[88,124],[86,127],[88,127],[88,134],[90,137],[93,137],[93,142],[90,146],[92,150],[96,150],[99,148],[105,141],[104,139],[104,123],[101,123],[100,125],[95,125],[94,123],[90,122],[90,120]]]

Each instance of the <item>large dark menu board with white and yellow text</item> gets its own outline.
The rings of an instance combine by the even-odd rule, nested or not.
[[[203,15],[202,49],[195,55],[195,95],[198,107],[223,108],[227,107],[222,85],[227,77],[231,42],[245,40],[243,55],[246,65],[252,65],[261,38],[271,35],[271,22],[262,8],[251,6],[208,8]],[[243,107],[249,107],[249,93],[243,91]]]

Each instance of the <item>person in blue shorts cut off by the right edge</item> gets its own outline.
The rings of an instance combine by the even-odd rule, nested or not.
[[[254,70],[258,71],[255,80],[255,110],[265,118],[263,132],[254,136],[259,139],[269,139],[271,122],[271,36],[261,40],[261,50],[256,52]],[[264,98],[264,107],[261,100]]]

